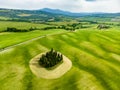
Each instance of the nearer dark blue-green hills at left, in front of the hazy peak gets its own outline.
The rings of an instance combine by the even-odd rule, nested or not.
[[[17,20],[17,21],[62,21],[65,15],[54,14],[42,10],[19,10],[0,8],[0,20]]]

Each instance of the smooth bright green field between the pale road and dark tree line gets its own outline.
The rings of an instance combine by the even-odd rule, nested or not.
[[[18,44],[33,38],[37,38],[40,36],[44,36],[47,34],[57,34],[57,33],[62,33],[66,32],[65,30],[62,29],[57,29],[57,30],[35,30],[31,32],[26,32],[26,33],[0,33],[0,49]]]

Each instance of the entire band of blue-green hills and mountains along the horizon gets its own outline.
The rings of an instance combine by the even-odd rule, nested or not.
[[[94,18],[96,18],[96,20],[98,20],[98,18],[101,18],[103,20],[104,18],[109,18],[109,20],[111,20],[119,17],[120,13],[72,13],[68,11],[50,8],[43,8],[39,10],[0,8],[0,20],[47,22],[65,20],[69,21],[75,18],[83,18],[85,20],[93,20]]]

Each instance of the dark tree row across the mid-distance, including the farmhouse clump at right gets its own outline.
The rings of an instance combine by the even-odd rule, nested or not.
[[[67,24],[67,25],[47,26],[44,28],[30,27],[28,29],[18,29],[16,27],[7,27],[6,30],[4,30],[3,32],[29,32],[33,30],[50,30],[50,29],[64,29],[64,30],[75,31],[76,29],[89,28],[89,27],[90,27],[89,25],[82,25],[81,23],[73,23],[73,24]],[[99,24],[97,28],[108,29],[110,28],[110,26],[106,24]]]

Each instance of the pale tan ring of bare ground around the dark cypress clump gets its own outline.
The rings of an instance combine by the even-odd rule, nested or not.
[[[39,54],[30,60],[30,69],[33,72],[33,74],[35,74],[37,77],[45,79],[60,78],[72,67],[72,62],[66,56],[63,55],[63,62],[60,65],[58,65],[55,69],[47,70],[38,64],[38,60],[42,54]]]

